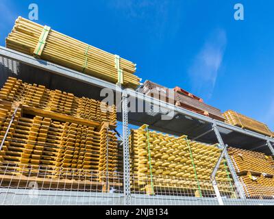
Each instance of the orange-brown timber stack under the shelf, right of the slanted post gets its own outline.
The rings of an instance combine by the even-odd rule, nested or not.
[[[273,198],[274,161],[255,151],[229,148],[237,175],[248,198]]]

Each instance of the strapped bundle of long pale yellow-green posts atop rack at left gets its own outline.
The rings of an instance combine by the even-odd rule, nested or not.
[[[133,62],[25,18],[16,20],[6,38],[6,47],[127,88],[140,84],[140,79],[134,75],[136,64]]]

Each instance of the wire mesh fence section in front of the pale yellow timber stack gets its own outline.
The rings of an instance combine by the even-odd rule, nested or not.
[[[133,204],[219,205],[211,181],[180,177],[132,175]],[[232,183],[219,184],[223,197],[237,198]]]

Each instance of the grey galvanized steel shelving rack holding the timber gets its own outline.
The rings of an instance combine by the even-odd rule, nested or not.
[[[253,202],[246,200],[241,183],[238,181],[236,171],[229,155],[226,151],[226,145],[234,146],[240,149],[248,149],[274,155],[274,139],[263,136],[240,127],[228,125],[219,120],[214,120],[190,112],[181,107],[153,99],[134,90],[122,89],[113,83],[103,81],[95,77],[79,73],[75,70],[52,64],[44,60],[38,60],[32,56],[19,53],[17,51],[0,47],[0,81],[3,83],[8,77],[16,77],[27,83],[38,83],[47,86],[49,89],[64,90],[72,92],[75,96],[86,96],[92,99],[102,100],[104,96],[100,95],[103,88],[108,88],[116,96],[121,96],[121,101],[116,103],[118,107],[118,119],[123,123],[123,194],[108,195],[101,194],[98,202],[93,204],[235,204],[235,205],[252,205]],[[3,84],[0,84],[3,86]],[[134,104],[133,104],[134,103]],[[128,107],[132,104],[132,107]],[[138,107],[148,107],[149,109],[159,110],[156,112],[138,112]],[[130,108],[130,110],[129,110]],[[120,109],[120,110],[119,110]],[[162,116],[172,115],[169,119],[162,119]],[[186,134],[191,140],[199,140],[209,144],[219,143],[220,149],[224,149],[224,155],[227,159],[229,170],[236,184],[236,190],[240,196],[237,200],[231,201],[218,197],[214,199],[192,198],[192,197],[173,197],[173,196],[145,196],[142,194],[131,194],[130,191],[130,169],[129,169],[129,124],[141,126],[149,125],[150,129],[162,131],[164,133],[180,136]],[[216,166],[218,168],[218,166]],[[5,189],[0,189],[5,192]],[[64,195],[64,194],[63,194]],[[95,195],[95,194],[94,194]],[[97,196],[97,195],[95,195]],[[0,196],[1,197],[1,196]],[[93,196],[92,196],[93,197]],[[13,198],[14,199],[14,198]],[[105,200],[108,202],[105,202]],[[83,201],[83,203],[85,203]],[[272,204],[269,201],[258,201],[257,204]]]

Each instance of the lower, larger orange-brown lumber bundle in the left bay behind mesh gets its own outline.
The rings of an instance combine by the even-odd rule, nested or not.
[[[14,105],[0,104],[1,140],[14,109]],[[36,181],[51,179],[53,184],[64,179],[71,186],[84,185],[86,180],[104,183],[106,172],[116,175],[118,156],[117,138],[108,123],[90,127],[77,121],[25,114],[21,105],[0,151],[0,178],[7,181],[8,175],[34,177]]]

